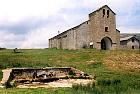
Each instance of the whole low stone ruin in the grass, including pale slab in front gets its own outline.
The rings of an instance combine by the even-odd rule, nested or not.
[[[92,76],[72,67],[11,68],[2,70],[0,87],[51,88],[94,83]]]

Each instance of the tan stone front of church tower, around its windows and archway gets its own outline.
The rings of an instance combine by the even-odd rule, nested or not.
[[[103,9],[105,15],[103,16]],[[107,10],[109,10],[109,17],[107,18]],[[109,37],[112,40],[112,50],[119,48],[120,33],[116,30],[115,13],[107,6],[89,14],[90,18],[90,32],[91,41],[94,43],[95,48],[101,49],[101,40],[104,37]],[[108,27],[108,32],[105,31]]]

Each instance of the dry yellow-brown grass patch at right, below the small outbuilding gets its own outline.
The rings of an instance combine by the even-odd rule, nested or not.
[[[140,54],[135,51],[112,52],[104,58],[104,64],[110,69],[140,72]]]

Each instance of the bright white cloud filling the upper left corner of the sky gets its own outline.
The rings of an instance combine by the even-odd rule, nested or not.
[[[18,21],[24,17],[55,14],[65,0],[0,0],[0,20]]]

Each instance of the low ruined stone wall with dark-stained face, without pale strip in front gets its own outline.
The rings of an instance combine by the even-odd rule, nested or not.
[[[7,75],[7,73],[9,75]],[[52,82],[59,79],[89,79],[89,75],[71,67],[11,68],[3,70],[2,86],[32,82]]]

